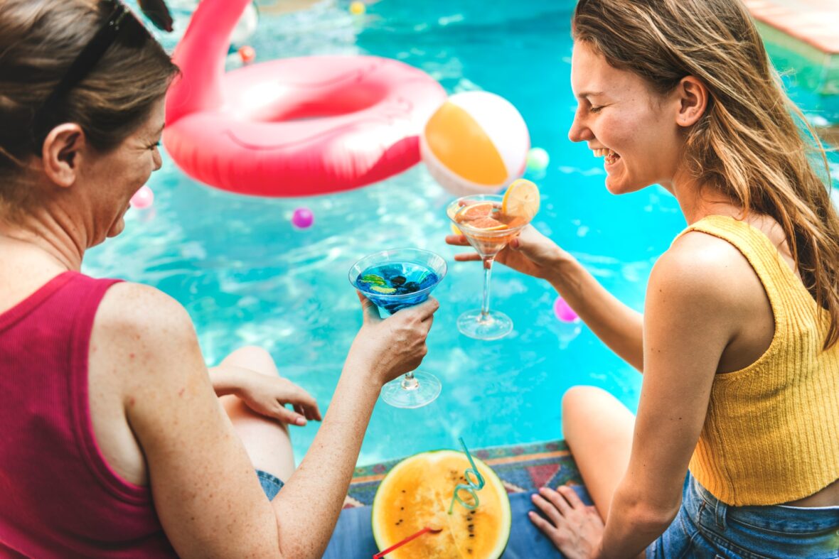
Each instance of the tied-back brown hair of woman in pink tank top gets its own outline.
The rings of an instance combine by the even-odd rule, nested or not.
[[[0,202],[14,207],[23,199],[13,179],[43,142],[43,137],[33,141],[36,111],[112,9],[113,3],[101,0],[0,3]],[[157,41],[138,45],[120,32],[62,99],[50,127],[76,122],[91,146],[107,153],[148,118],[177,72]]]

